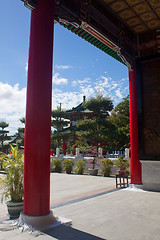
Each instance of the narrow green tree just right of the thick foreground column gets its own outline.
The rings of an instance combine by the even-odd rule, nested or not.
[[[65,111],[61,110],[61,107],[57,107],[56,110],[52,111],[51,126],[54,131],[51,134],[51,147],[60,147],[62,142],[62,135],[60,134],[64,127],[68,126],[69,120],[66,116]]]

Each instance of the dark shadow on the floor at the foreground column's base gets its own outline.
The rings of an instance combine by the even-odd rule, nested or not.
[[[106,240],[63,224],[56,228],[48,229],[44,233],[57,240]]]

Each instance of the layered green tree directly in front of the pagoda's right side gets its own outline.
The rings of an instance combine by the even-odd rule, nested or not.
[[[98,148],[98,143],[108,141],[114,130],[113,124],[108,121],[113,103],[109,98],[98,94],[96,97],[90,98],[84,106],[93,112],[94,117],[78,121],[76,134],[89,140],[92,144],[96,142]]]

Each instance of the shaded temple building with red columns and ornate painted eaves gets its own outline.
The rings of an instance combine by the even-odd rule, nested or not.
[[[50,214],[54,22],[129,70],[131,182],[160,191],[160,0],[23,0],[32,10],[24,214]],[[64,53],[65,54],[65,53]]]

